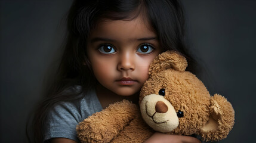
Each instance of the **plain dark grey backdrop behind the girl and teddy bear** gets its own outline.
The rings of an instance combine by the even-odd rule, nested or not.
[[[71,0],[0,1],[0,142],[24,142],[29,112],[42,96],[65,34]],[[255,133],[256,1],[183,0],[191,51],[205,66],[211,94],[235,109],[222,142],[253,142]]]

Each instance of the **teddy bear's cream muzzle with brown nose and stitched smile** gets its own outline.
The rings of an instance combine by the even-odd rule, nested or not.
[[[171,132],[179,125],[174,107],[161,95],[151,94],[144,97],[140,110],[147,125],[158,132]]]

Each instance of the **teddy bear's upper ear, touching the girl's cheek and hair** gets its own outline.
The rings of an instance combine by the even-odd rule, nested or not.
[[[185,71],[187,60],[176,51],[166,51],[159,54],[149,66],[149,74],[158,73],[166,69]]]

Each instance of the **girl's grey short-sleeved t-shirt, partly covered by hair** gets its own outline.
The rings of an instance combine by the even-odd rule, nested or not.
[[[79,90],[80,87],[73,88]],[[84,98],[76,102],[61,102],[49,112],[44,128],[44,141],[51,138],[69,138],[76,142],[76,125],[95,112],[101,111],[95,90],[83,94]]]

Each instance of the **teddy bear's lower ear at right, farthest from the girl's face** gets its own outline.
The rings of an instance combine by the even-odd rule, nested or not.
[[[202,139],[205,141],[219,141],[227,137],[233,128],[235,111],[226,98],[215,94],[211,97],[209,120],[201,129]]]

